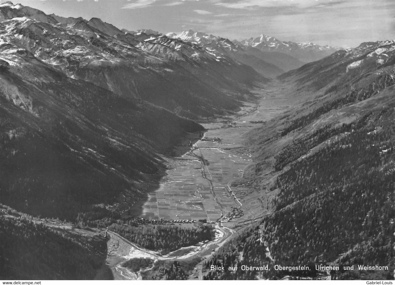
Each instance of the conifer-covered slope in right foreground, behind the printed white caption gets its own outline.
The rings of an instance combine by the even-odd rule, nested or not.
[[[274,213],[205,262],[205,278],[278,279],[290,275],[274,270],[274,264],[310,268],[315,264],[337,264],[340,268],[364,264],[389,266],[389,270],[340,270],[331,272],[332,278],[393,279],[395,115],[391,109],[388,106],[357,123],[341,126],[339,140],[321,145],[303,160],[295,158],[331,137],[327,133],[338,130],[325,127],[284,147],[276,156],[276,168],[284,171],[271,186],[280,191],[273,200]],[[239,261],[240,252],[243,262]],[[210,271],[212,264],[237,265],[239,269]],[[242,264],[267,264],[272,270],[243,271]],[[293,274],[318,278],[322,272]]]

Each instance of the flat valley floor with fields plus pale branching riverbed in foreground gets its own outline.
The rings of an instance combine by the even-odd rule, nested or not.
[[[250,185],[232,183],[243,177],[245,168],[252,161],[244,134],[290,108],[287,105],[289,99],[282,96],[284,92],[276,84],[256,89],[257,102],[245,102],[234,117],[201,123],[206,129],[202,139],[194,143],[184,155],[174,158],[165,179],[158,189],[149,193],[143,205],[136,203],[128,211],[131,215],[139,214],[147,220],[163,219],[174,221],[175,224],[183,220],[206,219],[215,224],[215,238],[190,247],[190,251],[185,251],[186,254],[169,253],[162,256],[109,232],[107,265],[115,279],[143,278],[141,273],[130,272],[121,266],[131,258],[188,260],[195,264],[198,260],[209,259],[234,236],[236,232],[232,228],[243,228],[271,211],[270,201],[277,191],[263,194],[263,201],[267,203],[263,206],[256,200],[257,194],[249,190]],[[185,149],[185,146],[180,149]],[[262,197],[262,193],[259,197]],[[190,279],[195,278],[202,279],[202,262],[190,272]]]

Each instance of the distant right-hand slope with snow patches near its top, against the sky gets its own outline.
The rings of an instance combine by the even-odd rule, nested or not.
[[[359,89],[378,77],[392,74],[394,46],[392,40],[362,43],[355,49],[337,51],[280,78],[296,81],[299,88],[309,91],[329,93],[338,89]]]

